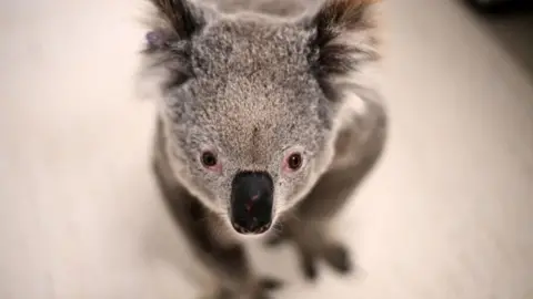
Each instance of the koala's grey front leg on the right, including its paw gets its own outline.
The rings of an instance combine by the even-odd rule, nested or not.
[[[289,215],[282,220],[281,233],[268,241],[270,246],[284,240],[293,243],[305,278],[314,280],[318,277],[319,260],[324,260],[341,274],[352,270],[349,250],[332,236],[329,226],[381,157],[384,145],[383,130],[378,127],[375,137],[366,144],[366,156],[353,165],[334,168],[324,174],[295,207],[292,216]]]

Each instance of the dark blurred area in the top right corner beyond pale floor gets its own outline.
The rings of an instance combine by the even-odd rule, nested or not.
[[[490,10],[480,10],[457,0],[480,27],[530,74],[533,83],[533,1],[515,1]]]

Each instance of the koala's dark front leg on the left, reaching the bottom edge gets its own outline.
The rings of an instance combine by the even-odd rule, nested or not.
[[[162,151],[164,142],[160,135],[152,161],[155,182],[167,207],[177,225],[184,233],[190,248],[201,261],[210,280],[214,281],[214,299],[261,299],[268,298],[271,290],[281,287],[281,281],[258,276],[251,268],[243,245],[230,236],[221,237],[215,231],[220,218],[210,213],[172,176],[168,158]],[[183,257],[193,258],[193,257]],[[214,278],[214,279],[213,279]]]

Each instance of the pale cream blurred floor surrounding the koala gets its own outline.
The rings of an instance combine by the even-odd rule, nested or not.
[[[30,4],[31,3],[31,4]],[[128,0],[0,2],[0,298],[193,298],[148,171]],[[340,233],[358,276],[278,298],[532,299],[533,87],[446,0],[389,0],[389,151]]]

